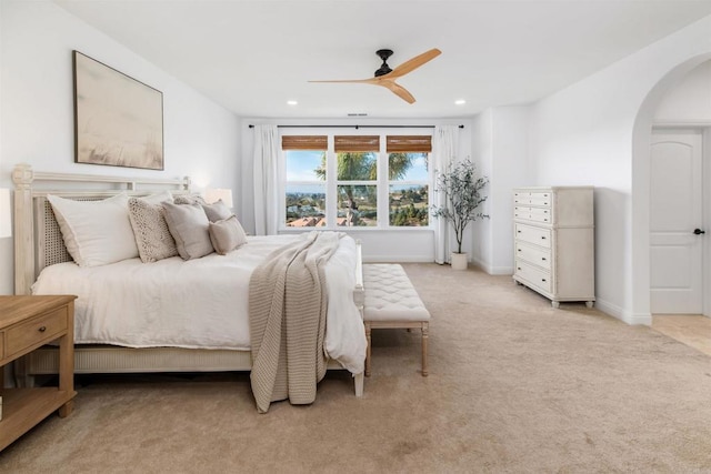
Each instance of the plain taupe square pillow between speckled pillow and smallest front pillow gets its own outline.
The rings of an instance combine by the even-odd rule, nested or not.
[[[183,260],[199,259],[214,251],[208,231],[210,221],[200,204],[164,202],[163,209],[168,229]]]

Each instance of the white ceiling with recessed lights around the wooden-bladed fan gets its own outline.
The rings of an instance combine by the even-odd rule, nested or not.
[[[238,115],[294,119],[460,118],[529,103],[711,14],[711,0],[54,3]],[[398,80],[415,103],[381,87],[308,82],[372,77],[382,48],[392,68],[442,51]]]

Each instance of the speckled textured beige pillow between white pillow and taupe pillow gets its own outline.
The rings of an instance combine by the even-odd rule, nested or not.
[[[162,205],[162,202],[171,199],[170,193],[129,199],[131,226],[143,263],[178,255],[178,248],[168,229]]]

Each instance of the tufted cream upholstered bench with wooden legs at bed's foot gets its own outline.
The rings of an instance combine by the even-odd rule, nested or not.
[[[419,329],[422,331],[422,376],[427,376],[427,342],[430,312],[414,291],[402,265],[393,263],[369,263],[363,265],[365,301],[363,323],[368,337],[365,375],[370,375],[371,330]]]

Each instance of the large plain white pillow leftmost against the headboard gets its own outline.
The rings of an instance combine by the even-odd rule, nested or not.
[[[129,221],[128,195],[76,201],[48,194],[64,245],[79,266],[98,266],[138,256]]]

